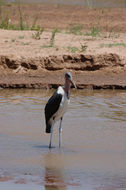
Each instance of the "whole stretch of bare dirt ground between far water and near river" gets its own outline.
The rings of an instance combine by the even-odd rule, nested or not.
[[[18,23],[15,6],[5,6],[3,15]],[[35,31],[0,30],[0,87],[56,88],[69,70],[78,88],[126,89],[125,9],[36,4],[22,10],[25,22],[37,16],[44,32],[37,40]]]

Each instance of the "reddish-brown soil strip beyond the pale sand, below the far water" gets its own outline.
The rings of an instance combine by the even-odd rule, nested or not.
[[[109,32],[126,31],[125,8],[89,9],[83,6],[34,3],[21,5],[21,13],[25,24],[36,24],[44,28],[66,29],[71,24],[81,24],[85,31],[94,26]],[[3,6],[2,15],[4,18],[9,17],[11,23],[18,24],[20,20],[18,4]]]

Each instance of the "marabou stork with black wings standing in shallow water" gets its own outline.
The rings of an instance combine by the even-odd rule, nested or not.
[[[71,84],[76,88],[70,72],[65,73],[65,85],[59,86],[45,106],[46,133],[50,134],[49,148],[51,148],[53,128],[56,121],[59,125],[59,147],[61,146],[62,119],[70,102]]]

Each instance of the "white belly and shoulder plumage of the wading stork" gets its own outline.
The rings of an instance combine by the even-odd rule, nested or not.
[[[63,115],[67,111],[68,104],[70,102],[70,100],[67,98],[66,93],[64,92],[64,89],[62,87],[58,88],[57,93],[62,94],[62,100],[61,100],[58,111],[55,113],[55,121],[63,117]]]

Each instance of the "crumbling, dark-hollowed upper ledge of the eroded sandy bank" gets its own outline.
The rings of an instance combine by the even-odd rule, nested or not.
[[[16,56],[0,56],[0,67],[4,70],[21,73],[22,72],[41,72],[74,70],[74,71],[96,71],[103,68],[114,69],[126,67],[125,59],[117,54],[103,55],[58,55],[35,58],[18,58]]]

